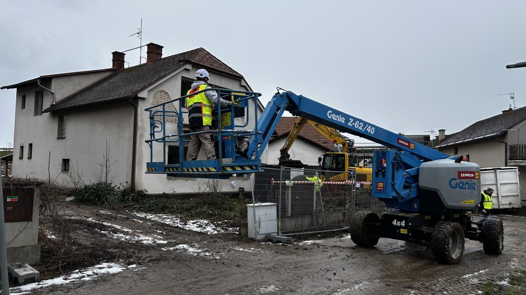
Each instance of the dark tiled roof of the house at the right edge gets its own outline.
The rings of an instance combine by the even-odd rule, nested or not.
[[[493,117],[469,125],[464,130],[457,132],[450,138],[442,141],[437,148],[493,136],[496,137],[502,135],[508,131],[507,129],[511,129],[513,126],[524,120],[526,120],[526,107],[494,115]]]

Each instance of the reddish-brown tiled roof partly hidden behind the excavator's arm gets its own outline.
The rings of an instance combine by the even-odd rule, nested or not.
[[[290,129],[292,128],[296,120],[298,120],[298,117],[281,117],[275,130],[277,136],[271,141],[276,141],[280,138],[288,136]],[[333,149],[332,141],[323,136],[318,130],[316,130],[316,128],[314,128],[309,123],[305,123],[305,125],[303,125],[303,128],[301,128],[298,137],[313,144],[316,144],[322,149],[326,149],[328,151],[331,151]]]

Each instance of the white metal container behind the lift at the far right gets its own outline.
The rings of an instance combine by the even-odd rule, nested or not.
[[[480,168],[480,185],[493,188],[493,209],[521,207],[518,167]]]

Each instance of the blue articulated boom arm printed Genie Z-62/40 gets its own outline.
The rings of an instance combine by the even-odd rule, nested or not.
[[[390,150],[375,151],[373,157],[373,196],[389,207],[418,211],[418,167],[423,162],[447,159],[447,154],[380,128],[360,118],[330,108],[291,91],[276,93],[265,107],[258,130],[251,136],[246,151],[248,159],[260,159],[283,112],[360,136],[387,146]]]

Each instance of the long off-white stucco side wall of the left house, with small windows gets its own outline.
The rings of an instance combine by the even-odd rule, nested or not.
[[[45,85],[59,87],[59,83]],[[82,85],[80,82],[78,85]],[[70,91],[77,91],[69,88]],[[73,109],[60,113],[43,113],[34,116],[34,93],[40,90],[36,85],[17,89],[15,109],[13,177],[33,176],[49,180],[57,186],[72,186],[68,173],[61,172],[62,159],[70,159],[70,169],[78,167],[83,171],[84,180],[92,182],[99,169],[98,162],[106,149],[106,138],[110,146],[114,183],[130,181],[131,129],[133,108],[127,102],[109,103],[93,107]],[[57,91],[58,93],[58,91]],[[68,95],[63,91],[61,95]],[[26,107],[21,109],[22,95],[26,95]],[[51,103],[52,96],[44,91],[44,109]],[[66,114],[66,137],[57,139],[58,114]],[[27,159],[28,144],[33,144],[32,159]],[[19,157],[19,146],[24,145],[24,157]],[[49,160],[49,152],[51,152]],[[49,173],[48,173],[49,162]],[[71,170],[70,172],[71,173]],[[49,176],[48,176],[49,174]]]

